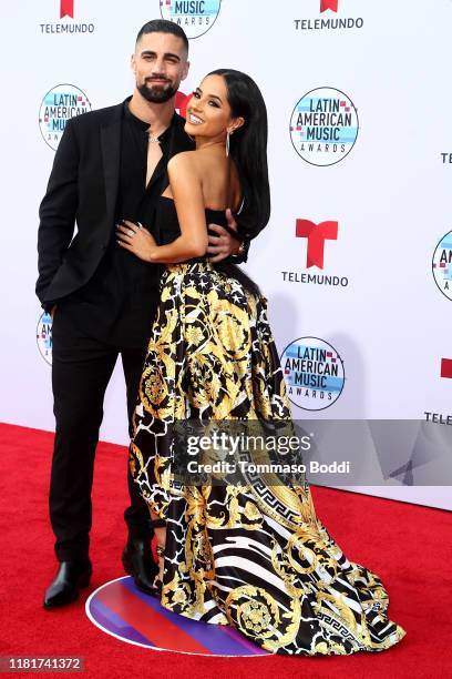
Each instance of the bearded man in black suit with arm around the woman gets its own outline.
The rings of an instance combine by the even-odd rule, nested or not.
[[[37,294],[53,317],[56,426],[49,505],[60,561],[45,591],[48,609],[75,600],[90,581],[94,455],[119,354],[129,418],[135,406],[162,268],[120,249],[115,225],[123,219],[141,222],[161,242],[157,199],[168,184],[167,162],[193,148],[174,111],[187,57],[188,41],[179,27],[163,20],[146,23],[132,57],[132,98],[68,122],[41,203]],[[240,253],[243,245],[226,230],[213,230],[217,235],[209,239],[208,252],[214,261]],[[151,591],[158,568],[150,548],[148,510],[130,473],[129,493],[123,565],[137,587]]]

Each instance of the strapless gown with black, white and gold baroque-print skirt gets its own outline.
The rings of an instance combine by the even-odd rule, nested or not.
[[[175,237],[175,205],[161,200]],[[225,223],[223,212],[206,217]],[[191,418],[290,419],[266,300],[207,261],[163,275],[130,447],[134,480],[166,520],[162,606],[232,625],[276,653],[349,655],[400,641],[381,580],[342,554],[306,483],[264,491],[261,483],[258,491],[174,483],[167,426]]]

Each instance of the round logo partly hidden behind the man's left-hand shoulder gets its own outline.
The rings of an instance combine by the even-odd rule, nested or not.
[[[39,128],[45,143],[56,151],[68,120],[86,111],[91,111],[91,103],[82,90],[68,83],[52,88],[39,110]]]

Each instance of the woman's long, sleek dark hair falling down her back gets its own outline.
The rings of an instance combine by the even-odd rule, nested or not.
[[[208,75],[222,75],[233,118],[245,123],[230,135],[230,158],[240,180],[244,206],[237,217],[238,234],[254,239],[270,219],[270,188],[267,164],[267,109],[255,81],[234,69],[217,69]]]

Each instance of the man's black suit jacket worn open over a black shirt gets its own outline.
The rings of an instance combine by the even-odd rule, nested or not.
[[[61,138],[40,206],[38,232],[37,295],[47,310],[88,283],[109,246],[120,179],[123,107],[120,103],[73,118]],[[184,124],[175,114],[168,160],[194,148]],[[151,182],[155,195],[163,193],[168,184],[166,165],[154,172]],[[148,227],[158,243],[158,201],[155,203],[155,219]]]

